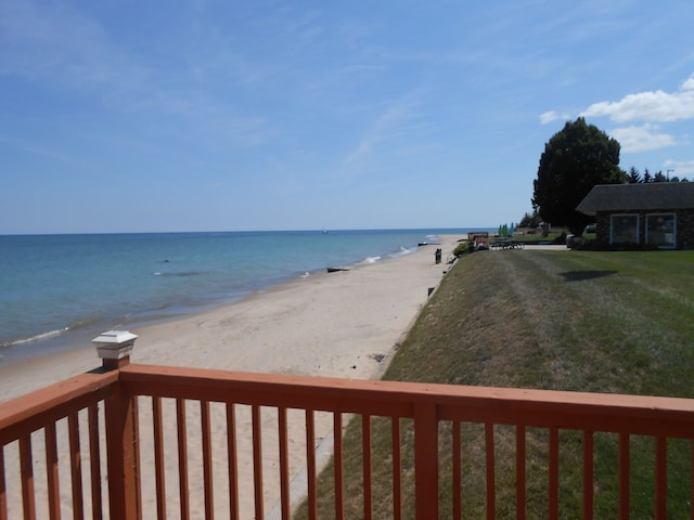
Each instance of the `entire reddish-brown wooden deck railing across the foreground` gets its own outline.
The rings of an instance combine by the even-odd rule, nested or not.
[[[0,519],[291,518],[293,504],[304,497],[308,518],[347,518],[343,432],[350,417],[361,418],[359,516],[367,519],[374,510],[373,474],[383,474],[372,458],[376,418],[384,418],[390,430],[389,493],[378,498],[388,502],[389,518],[415,510],[419,519],[435,519],[439,507],[452,511],[446,518],[464,517],[470,498],[463,466],[474,455],[465,451],[462,439],[475,428],[481,432],[474,450],[481,453],[480,489],[490,519],[502,516],[498,494],[509,490],[500,489],[501,473],[506,472],[501,459],[509,457],[513,474],[501,480],[515,487],[512,516],[560,518],[560,468],[566,464],[561,447],[567,431],[579,437],[576,464],[583,518],[595,516],[594,445],[601,432],[617,438],[620,518],[630,514],[635,437],[653,438],[655,445],[653,510],[645,516],[668,518],[671,484],[681,487],[684,480],[684,487],[694,491],[692,400],[249,374],[127,361],[106,368],[111,369],[0,404]],[[537,429],[544,432],[540,447],[547,455],[541,461],[541,510],[528,504],[534,493],[527,482],[528,452],[537,447],[529,437]],[[413,438],[411,451],[406,438]],[[689,469],[672,476],[668,444],[682,442],[674,439],[687,444]],[[85,444],[88,450],[82,450]],[[325,451],[334,454],[334,502],[330,510],[319,510],[317,474]],[[448,468],[448,463],[440,463],[444,455],[451,460],[447,476],[441,476],[444,466]],[[412,497],[402,491],[410,472]],[[441,502],[449,499],[452,505]],[[686,500],[691,503],[691,494]],[[691,517],[691,507],[684,507]]]

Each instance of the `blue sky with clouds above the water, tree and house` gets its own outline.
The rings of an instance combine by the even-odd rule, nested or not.
[[[497,226],[566,120],[694,180],[691,0],[0,3],[0,234]]]

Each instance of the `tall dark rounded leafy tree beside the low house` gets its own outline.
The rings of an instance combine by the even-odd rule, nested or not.
[[[579,117],[544,145],[532,207],[544,222],[580,233],[591,218],[575,208],[588,192],[596,184],[624,182],[627,174],[619,168],[619,143]]]

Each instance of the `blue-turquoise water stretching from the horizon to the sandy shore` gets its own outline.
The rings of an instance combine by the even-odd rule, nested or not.
[[[0,364],[467,231],[477,230],[0,236]]]

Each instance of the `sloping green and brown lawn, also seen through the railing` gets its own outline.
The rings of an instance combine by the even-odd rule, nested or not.
[[[450,385],[694,398],[694,251],[507,250],[464,256],[446,275],[399,347],[384,379]],[[450,425],[441,426],[441,518],[450,517],[446,474]],[[360,420],[345,435],[347,518],[361,518]],[[391,518],[389,422],[374,418],[374,518]],[[498,518],[515,518],[514,431],[497,428]],[[547,511],[547,431],[528,431],[528,518]],[[403,426],[404,484],[412,433]],[[465,518],[485,511],[484,430],[463,425]],[[595,438],[595,515],[616,517],[617,444]],[[562,432],[562,517],[577,518],[581,439]],[[653,441],[633,438],[631,518],[652,518]],[[691,455],[669,446],[668,517],[689,515]],[[320,485],[321,518],[332,518],[332,465]],[[403,493],[413,518],[412,492]],[[644,512],[646,511],[646,512]],[[299,516],[299,518],[303,518]]]

